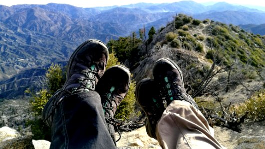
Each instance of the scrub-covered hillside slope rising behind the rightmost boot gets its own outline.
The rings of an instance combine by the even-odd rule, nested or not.
[[[253,91],[264,88],[265,36],[220,22],[196,21],[178,15],[175,29],[173,21],[158,30],[148,45],[149,54],[132,70],[135,80],[152,77],[154,62],[168,57],[181,67],[186,89],[193,96],[219,98],[222,94],[227,101],[239,102],[246,100]],[[142,53],[145,53],[144,45]],[[205,80],[208,77],[209,82]],[[239,90],[238,86],[241,86]],[[236,91],[239,96],[231,97]]]

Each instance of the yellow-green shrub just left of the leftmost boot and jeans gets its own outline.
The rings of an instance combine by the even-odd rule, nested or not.
[[[25,91],[31,95],[29,105],[34,116],[34,119],[27,120],[26,125],[30,126],[33,139],[50,141],[51,130],[44,124],[41,118],[41,112],[51,95],[62,87],[65,81],[65,72],[62,71],[60,65],[52,64],[46,72],[46,78],[48,89],[42,88],[37,93],[34,93],[29,88]]]

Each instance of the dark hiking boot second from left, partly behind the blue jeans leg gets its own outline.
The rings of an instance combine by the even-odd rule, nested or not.
[[[128,92],[131,82],[130,71],[121,65],[116,65],[104,73],[96,85],[96,91],[101,97],[103,112],[107,122],[110,135],[115,141],[114,126],[116,122],[114,114],[120,105],[122,99]]]

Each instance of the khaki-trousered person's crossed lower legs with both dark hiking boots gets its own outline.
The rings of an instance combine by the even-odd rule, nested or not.
[[[148,113],[148,135],[153,134],[149,136],[157,139],[163,149],[222,148],[211,136],[210,126],[196,102],[186,93],[177,64],[162,58],[155,63],[153,75],[154,80],[143,79],[136,86],[136,99]],[[157,100],[153,100],[154,94],[148,87],[148,90],[159,90]],[[150,107],[147,103],[159,106]],[[152,118],[154,113],[160,117]],[[150,119],[155,119],[155,123],[150,123]]]

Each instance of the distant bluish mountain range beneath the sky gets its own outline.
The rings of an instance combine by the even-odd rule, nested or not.
[[[264,11],[226,2],[209,6],[180,1],[93,8],[56,3],[0,5],[0,98],[21,95],[45,74],[45,68],[66,62],[87,39],[107,42],[138,32],[143,26],[147,31],[151,26],[159,29],[178,13],[243,24],[242,28],[244,24],[265,23]]]

